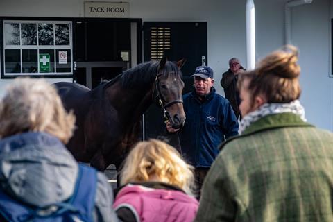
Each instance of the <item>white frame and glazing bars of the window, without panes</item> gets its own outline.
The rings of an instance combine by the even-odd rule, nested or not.
[[[4,25],[5,23],[19,23],[19,45],[6,45]],[[46,23],[53,24],[53,45],[39,45],[38,39],[38,24]],[[22,45],[22,24],[36,24],[36,35],[37,35],[37,44],[36,45]],[[69,45],[57,45],[56,44],[56,24],[69,24]],[[36,18],[36,17],[0,17],[0,66],[1,66],[1,78],[16,78],[18,76],[30,76],[30,77],[47,77],[47,78],[73,78],[74,76],[74,67],[73,67],[73,58],[74,58],[74,42],[73,42],[73,21],[68,18]],[[5,62],[5,50],[6,49],[19,49],[20,50],[20,73],[6,73],[6,62]],[[24,73],[23,72],[23,51],[24,49],[36,49],[37,50],[37,72],[35,73]],[[67,72],[57,72],[57,56],[56,53],[59,50],[69,51],[70,56],[67,60],[70,59],[69,67],[70,71]],[[50,62],[50,66],[53,62],[54,71],[52,72],[40,72],[39,64],[39,55],[40,50],[53,50],[54,58]],[[68,53],[67,53],[68,54]],[[50,55],[51,56],[51,55]]]

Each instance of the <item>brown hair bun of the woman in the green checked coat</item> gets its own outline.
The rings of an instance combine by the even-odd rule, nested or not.
[[[287,45],[266,56],[258,66],[258,74],[272,73],[282,78],[298,78],[300,66],[297,64],[298,50]]]

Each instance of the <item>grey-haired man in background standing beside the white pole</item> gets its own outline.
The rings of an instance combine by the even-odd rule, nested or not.
[[[230,58],[229,69],[222,74],[221,86],[224,89],[225,98],[231,103],[232,110],[237,119],[241,116],[239,112],[239,90],[237,89],[238,74],[244,71],[238,58]]]

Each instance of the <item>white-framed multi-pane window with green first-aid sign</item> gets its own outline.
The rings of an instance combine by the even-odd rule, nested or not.
[[[71,22],[3,21],[3,76],[72,75]]]

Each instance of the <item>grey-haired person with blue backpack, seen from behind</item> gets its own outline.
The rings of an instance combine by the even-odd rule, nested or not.
[[[18,78],[0,101],[0,221],[117,221],[110,185],[66,144],[75,117],[42,79]]]

